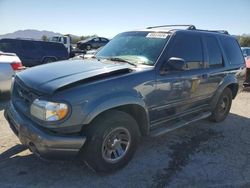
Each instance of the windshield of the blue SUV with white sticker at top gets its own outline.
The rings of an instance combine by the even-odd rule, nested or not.
[[[96,57],[120,58],[135,64],[154,65],[168,38],[167,33],[146,31],[121,33],[104,46]]]

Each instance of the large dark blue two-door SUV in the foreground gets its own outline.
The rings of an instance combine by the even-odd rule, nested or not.
[[[11,129],[39,157],[78,155],[111,172],[132,159],[141,136],[223,121],[243,88],[240,46],[227,32],[180,27],[124,32],[95,59],[19,73],[4,112]]]

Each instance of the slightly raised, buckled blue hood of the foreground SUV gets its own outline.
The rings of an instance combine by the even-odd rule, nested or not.
[[[17,76],[29,88],[52,94],[55,90],[78,81],[101,75],[109,77],[116,72],[125,74],[132,68],[132,65],[108,60],[67,60],[36,66],[18,73]]]

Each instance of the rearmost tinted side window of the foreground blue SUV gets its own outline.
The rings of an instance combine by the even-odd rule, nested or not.
[[[244,59],[238,42],[234,38],[222,38],[222,46],[230,64],[243,64]]]

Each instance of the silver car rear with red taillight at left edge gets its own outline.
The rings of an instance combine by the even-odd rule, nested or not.
[[[15,72],[23,68],[21,60],[16,54],[0,51],[0,101],[10,98],[12,77]]]

